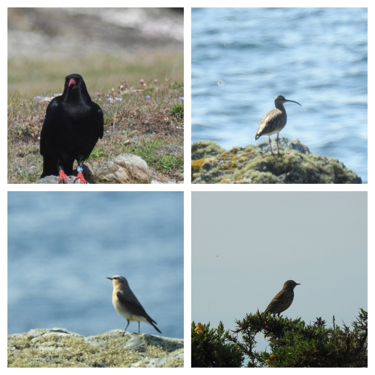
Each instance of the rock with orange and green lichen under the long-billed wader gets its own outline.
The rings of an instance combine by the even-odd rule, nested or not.
[[[192,144],[192,183],[362,183],[338,159],[312,154],[298,139],[276,141],[226,151],[211,141]]]

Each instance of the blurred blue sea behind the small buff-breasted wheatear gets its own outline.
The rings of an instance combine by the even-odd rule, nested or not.
[[[114,275],[162,336],[183,338],[182,192],[8,193],[8,334],[125,329]],[[160,335],[147,323],[141,332]]]

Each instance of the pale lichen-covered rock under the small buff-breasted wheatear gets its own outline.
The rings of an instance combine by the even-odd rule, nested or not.
[[[8,367],[183,367],[183,339],[111,330],[32,329],[8,336]]]

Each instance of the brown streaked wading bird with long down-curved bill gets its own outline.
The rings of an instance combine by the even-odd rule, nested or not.
[[[287,123],[287,112],[285,111],[285,108],[283,105],[285,102],[293,102],[293,103],[297,103],[298,105],[300,105],[298,102],[295,102],[294,100],[285,99],[284,96],[282,95],[276,96],[275,98],[276,108],[267,112],[261,118],[259,125],[258,125],[257,133],[255,134],[254,141],[256,141],[262,135],[268,135],[272,155],[273,155],[273,151],[272,151],[272,146],[271,146],[270,135],[275,134],[275,133],[278,133],[278,136],[276,138],[276,143],[278,145],[278,155],[280,155],[279,132]]]

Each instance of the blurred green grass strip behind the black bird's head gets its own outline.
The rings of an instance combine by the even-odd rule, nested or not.
[[[67,75],[80,74],[91,96],[112,89],[118,81],[141,87],[165,81],[183,82],[183,52],[143,51],[119,56],[95,55],[80,58],[51,57],[8,59],[8,95],[23,97],[62,93]]]

